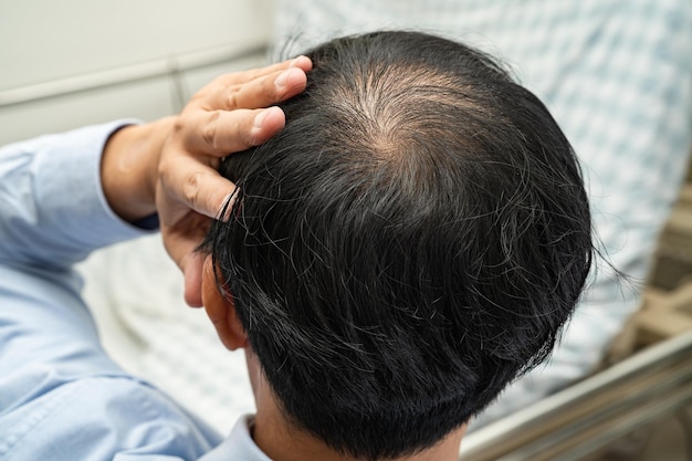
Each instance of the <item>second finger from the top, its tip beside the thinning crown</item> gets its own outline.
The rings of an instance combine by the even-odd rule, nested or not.
[[[206,111],[266,107],[295,96],[306,85],[305,72],[291,67],[241,85],[219,85],[200,99],[199,104]]]

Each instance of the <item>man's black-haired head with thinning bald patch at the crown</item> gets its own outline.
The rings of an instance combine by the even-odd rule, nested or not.
[[[490,59],[412,32],[308,53],[208,238],[289,421],[357,458],[434,444],[543,360],[591,260],[568,142]]]

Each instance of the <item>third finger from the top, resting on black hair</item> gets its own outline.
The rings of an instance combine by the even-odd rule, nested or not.
[[[196,112],[188,116],[181,129],[202,127],[201,133],[181,133],[186,149],[214,157],[247,150],[264,143],[285,125],[285,115],[279,107],[266,109],[237,109]]]

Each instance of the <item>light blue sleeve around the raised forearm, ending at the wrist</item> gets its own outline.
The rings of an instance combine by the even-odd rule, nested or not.
[[[0,148],[0,263],[66,268],[97,248],[144,233],[111,210],[101,185],[106,140],[133,123]]]

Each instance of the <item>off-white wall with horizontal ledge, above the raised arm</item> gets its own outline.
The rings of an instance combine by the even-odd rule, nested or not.
[[[272,14],[272,0],[2,0],[0,144],[178,112],[214,75],[264,63]]]

